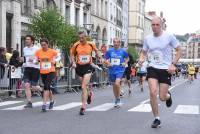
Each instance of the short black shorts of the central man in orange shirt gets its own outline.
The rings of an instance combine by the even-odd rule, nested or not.
[[[86,64],[86,65],[77,64],[77,66],[76,66],[76,74],[79,77],[83,77],[85,74],[89,74],[92,72],[93,72],[93,68],[90,64]]]

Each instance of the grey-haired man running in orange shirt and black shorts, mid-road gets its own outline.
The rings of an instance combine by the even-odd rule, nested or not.
[[[82,88],[82,106],[80,108],[80,115],[85,114],[86,102],[88,104],[91,103],[91,95],[87,91],[88,84],[90,82],[91,74],[92,74],[92,51],[95,51],[98,57],[98,50],[96,45],[92,42],[88,42],[86,40],[85,32],[80,31],[79,33],[79,41],[76,42],[71,50],[70,57],[72,61],[72,67],[76,68],[76,73],[80,78],[81,88]]]

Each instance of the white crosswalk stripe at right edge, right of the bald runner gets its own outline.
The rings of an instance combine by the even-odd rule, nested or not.
[[[199,106],[197,105],[178,105],[175,114],[199,114]]]

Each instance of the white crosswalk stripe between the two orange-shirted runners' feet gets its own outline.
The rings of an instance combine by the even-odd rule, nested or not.
[[[53,108],[53,110],[67,110],[67,109],[81,106],[81,104],[82,104],[81,102],[72,102],[72,103],[56,106]]]

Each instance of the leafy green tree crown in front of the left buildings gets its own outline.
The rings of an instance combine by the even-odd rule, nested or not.
[[[78,29],[66,24],[57,9],[41,10],[33,16],[31,23],[29,29],[36,39],[47,38],[51,46],[57,46],[65,52],[78,39]]]

